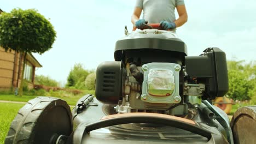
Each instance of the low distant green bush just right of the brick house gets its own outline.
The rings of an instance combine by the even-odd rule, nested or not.
[[[51,79],[49,76],[36,75],[34,78],[34,83],[37,85],[44,85],[49,87],[58,87],[59,82]]]

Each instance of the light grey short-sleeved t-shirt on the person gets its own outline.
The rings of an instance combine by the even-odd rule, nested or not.
[[[136,0],[136,7],[143,9],[143,19],[148,23],[176,20],[174,10],[184,5],[184,0]]]

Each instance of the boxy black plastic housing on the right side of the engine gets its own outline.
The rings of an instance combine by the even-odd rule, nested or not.
[[[185,57],[187,74],[205,82],[206,97],[223,97],[229,90],[225,52],[217,47],[203,52],[200,56]]]

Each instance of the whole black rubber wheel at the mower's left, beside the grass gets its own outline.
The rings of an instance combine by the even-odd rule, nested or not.
[[[4,143],[52,143],[59,135],[69,136],[72,131],[72,114],[66,101],[37,97],[19,110]]]

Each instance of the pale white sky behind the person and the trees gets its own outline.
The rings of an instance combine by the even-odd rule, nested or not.
[[[158,0],[160,1],[160,0]],[[115,41],[131,31],[135,0],[0,0],[0,8],[34,8],[50,18],[57,38],[53,49],[33,54],[43,65],[38,75],[66,82],[75,63],[96,69],[103,61],[114,61]],[[197,56],[207,47],[219,47],[228,60],[256,61],[256,1],[186,1],[188,22],[177,34]]]

